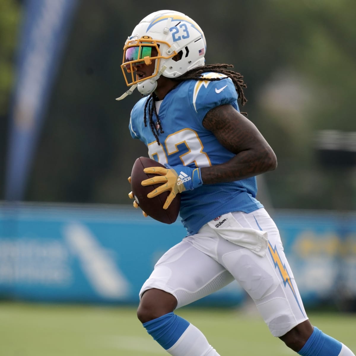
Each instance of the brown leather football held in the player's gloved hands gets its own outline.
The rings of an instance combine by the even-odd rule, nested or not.
[[[161,184],[152,184],[144,187],[141,185],[142,180],[157,176],[157,174],[147,174],[143,172],[148,167],[164,167],[163,164],[156,162],[148,157],[139,157],[136,159],[131,172],[131,189],[138,203],[138,206],[145,211],[151,218],[161,221],[161,223],[172,224],[177,220],[180,209],[180,194],[172,200],[168,209],[163,209],[163,205],[168,197],[169,192],[163,192],[157,197],[147,198],[147,194],[158,188]]]

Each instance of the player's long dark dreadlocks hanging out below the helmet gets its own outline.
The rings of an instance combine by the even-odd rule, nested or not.
[[[245,105],[247,99],[245,98],[244,90],[242,88],[246,88],[246,84],[244,83],[243,76],[240,73],[234,72],[233,70],[227,69],[227,68],[234,68],[232,64],[208,64],[207,66],[202,66],[202,67],[196,67],[188,72],[184,73],[180,77],[177,78],[171,78],[174,82],[178,83],[183,82],[184,80],[207,80],[209,82],[214,82],[215,80],[221,80],[224,78],[204,78],[201,76],[201,74],[206,73],[206,72],[213,72],[213,73],[221,73],[225,74],[226,77],[231,78],[232,82],[235,85],[237,94],[239,96],[241,105]],[[174,86],[172,89],[174,89],[176,86]],[[171,89],[171,90],[172,90]],[[149,124],[151,127],[151,131],[153,135],[155,136],[158,145],[161,143],[159,142],[158,135],[159,133],[164,133],[161,125],[161,120],[159,120],[157,110],[156,110],[156,104],[155,104],[155,94],[152,93],[151,95],[148,96],[146,104],[145,104],[145,112],[143,116],[143,122],[145,126],[147,126],[147,108],[148,108],[148,120]],[[155,114],[157,118],[156,124],[153,122],[153,113]],[[243,113],[245,114],[245,113]]]

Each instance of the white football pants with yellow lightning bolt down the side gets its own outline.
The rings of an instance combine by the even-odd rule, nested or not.
[[[307,320],[274,221],[261,208],[224,214],[185,237],[158,260],[143,284],[171,293],[177,308],[236,279],[255,302],[273,336]]]

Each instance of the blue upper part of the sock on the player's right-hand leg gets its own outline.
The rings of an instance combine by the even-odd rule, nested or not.
[[[340,354],[341,347],[340,341],[324,334],[314,326],[313,334],[310,335],[298,354],[302,356],[337,356]]]

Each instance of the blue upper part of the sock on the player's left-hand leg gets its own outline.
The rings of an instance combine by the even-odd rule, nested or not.
[[[188,328],[189,322],[174,313],[168,313],[142,325],[164,350],[170,349]]]

